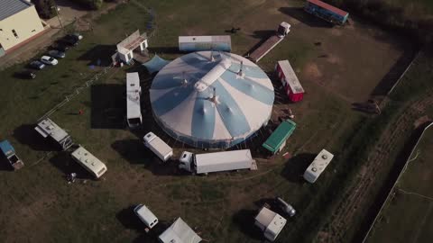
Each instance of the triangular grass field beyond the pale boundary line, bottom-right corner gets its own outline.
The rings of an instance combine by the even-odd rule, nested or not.
[[[366,242],[429,242],[433,227],[431,166],[433,130],[414,149],[410,163],[385,202]]]

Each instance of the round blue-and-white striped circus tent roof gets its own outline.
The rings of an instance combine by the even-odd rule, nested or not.
[[[271,80],[260,67],[215,51],[170,62],[153,79],[150,96],[163,128],[193,141],[248,137],[269,121],[274,100]]]

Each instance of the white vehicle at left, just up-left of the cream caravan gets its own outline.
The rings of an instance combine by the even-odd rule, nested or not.
[[[50,118],[40,121],[34,130],[38,131],[43,138],[50,137],[59,143],[63,150],[68,149],[73,144],[68,132],[62,130],[54,121],[51,121]]]

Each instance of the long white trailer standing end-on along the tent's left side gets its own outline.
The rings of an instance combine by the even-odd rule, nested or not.
[[[140,86],[140,77],[138,73],[126,74],[126,121],[130,128],[137,127],[142,124],[142,108],[140,106],[140,94],[142,87]]]

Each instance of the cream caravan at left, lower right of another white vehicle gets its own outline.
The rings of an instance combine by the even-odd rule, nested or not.
[[[78,162],[78,164],[83,166],[96,178],[99,178],[106,173],[106,165],[102,163],[101,160],[97,159],[97,157],[89,153],[86,148],[79,146],[79,148],[73,151],[70,155]]]

